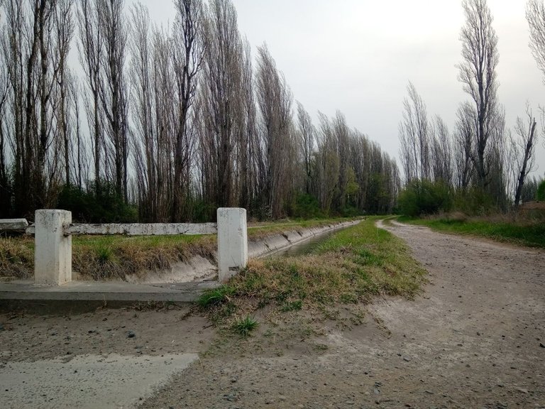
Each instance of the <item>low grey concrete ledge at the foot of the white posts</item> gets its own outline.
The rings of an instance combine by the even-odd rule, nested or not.
[[[59,286],[40,286],[31,280],[14,280],[0,283],[0,300],[192,302],[204,290],[219,285],[217,281],[146,285],[114,281],[72,281]]]

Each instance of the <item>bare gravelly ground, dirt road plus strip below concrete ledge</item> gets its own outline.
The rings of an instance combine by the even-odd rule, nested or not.
[[[407,241],[429,284],[416,300],[368,305],[363,322],[341,310],[317,324],[320,337],[297,316],[238,339],[178,309],[4,314],[0,362],[199,353],[142,400],[147,409],[545,408],[545,252],[387,229]]]

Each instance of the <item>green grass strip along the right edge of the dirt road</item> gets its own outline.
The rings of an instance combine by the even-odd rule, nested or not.
[[[435,231],[480,236],[505,243],[545,248],[545,223],[543,221],[510,222],[500,217],[496,219],[466,219],[462,217],[409,219],[400,217],[400,222],[427,226]]]

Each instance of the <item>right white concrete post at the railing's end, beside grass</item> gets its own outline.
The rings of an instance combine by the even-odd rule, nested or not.
[[[248,264],[246,209],[220,207],[217,217],[219,281],[226,283]]]

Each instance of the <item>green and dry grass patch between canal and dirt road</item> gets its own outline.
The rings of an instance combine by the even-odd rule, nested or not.
[[[413,298],[425,271],[409,256],[407,246],[375,227],[375,221],[370,218],[338,231],[304,256],[251,260],[229,282],[231,315],[219,305],[209,309],[211,317],[220,324],[229,317],[223,322],[229,326],[236,317],[253,315],[265,306],[282,315],[370,302],[376,295]]]

